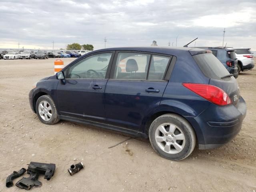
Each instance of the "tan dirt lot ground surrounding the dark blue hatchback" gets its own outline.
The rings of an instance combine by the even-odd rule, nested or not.
[[[73,59],[63,60],[68,64]],[[28,92],[34,82],[54,73],[53,63],[54,59],[0,60],[1,192],[20,191],[6,188],[5,180],[30,161],[56,164],[52,179],[41,176],[42,187],[32,189],[39,192],[255,192],[256,70],[238,77],[248,107],[240,134],[226,146],[196,149],[186,160],[174,162],[158,156],[148,140],[131,139],[108,149],[128,137],[64,121],[42,124],[30,109]],[[80,161],[85,169],[70,176],[68,167]]]

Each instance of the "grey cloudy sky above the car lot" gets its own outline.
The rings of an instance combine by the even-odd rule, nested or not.
[[[248,47],[256,50],[256,0],[1,0],[0,48],[67,44]],[[190,46],[194,46],[192,43]]]

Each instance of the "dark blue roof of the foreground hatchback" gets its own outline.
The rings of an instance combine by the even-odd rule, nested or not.
[[[165,47],[165,46],[144,46],[144,47],[115,47],[115,48],[104,48],[100,50],[95,50],[94,52],[103,51],[141,51],[141,52],[153,52],[159,54],[170,54],[179,55],[184,52],[190,52],[191,55],[200,54],[205,52],[204,49],[193,48],[193,47]]]

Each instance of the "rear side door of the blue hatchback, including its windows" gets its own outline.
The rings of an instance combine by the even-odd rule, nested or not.
[[[166,69],[172,56],[116,52],[105,90],[106,121],[141,131],[144,118],[156,110],[166,85]]]

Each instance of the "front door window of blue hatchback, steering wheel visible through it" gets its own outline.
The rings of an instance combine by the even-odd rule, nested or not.
[[[100,53],[88,56],[72,65],[67,78],[104,79],[112,53]]]

